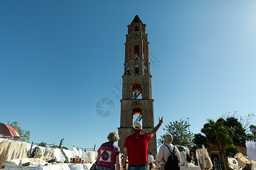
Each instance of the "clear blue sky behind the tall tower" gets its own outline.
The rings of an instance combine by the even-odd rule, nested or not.
[[[138,12],[137,12],[138,11]],[[117,131],[127,25],[147,24],[155,125],[256,113],[256,1],[0,1],[0,121],[92,148]],[[96,114],[113,100],[112,116]],[[157,137],[164,131],[160,129]]]

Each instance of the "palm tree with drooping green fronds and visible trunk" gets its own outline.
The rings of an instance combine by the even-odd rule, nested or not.
[[[222,169],[228,169],[226,161],[224,161],[226,146],[233,144],[234,132],[228,126],[224,125],[223,121],[207,120],[208,123],[204,124],[204,128],[201,132],[206,136],[206,142],[208,145],[216,144],[221,157]],[[224,166],[225,165],[225,166]]]

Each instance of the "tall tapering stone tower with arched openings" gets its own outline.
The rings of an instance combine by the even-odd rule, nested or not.
[[[128,27],[125,42],[125,71],[123,73],[121,120],[118,128],[118,146],[123,152],[123,144],[128,135],[134,133],[133,123],[142,123],[142,134],[154,129],[154,110],[151,88],[150,62],[146,33],[143,24],[136,15]],[[156,135],[148,143],[148,152],[156,154]]]

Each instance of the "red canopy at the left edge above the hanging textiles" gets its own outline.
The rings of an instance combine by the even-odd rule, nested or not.
[[[19,133],[11,126],[0,123],[0,137],[21,139]]]

